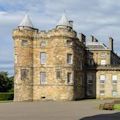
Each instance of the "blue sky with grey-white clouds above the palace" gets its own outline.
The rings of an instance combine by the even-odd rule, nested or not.
[[[0,0],[0,71],[14,73],[12,30],[26,13],[36,28],[49,30],[64,10],[77,32],[88,39],[94,35],[106,45],[112,36],[115,52],[120,54],[120,0]]]

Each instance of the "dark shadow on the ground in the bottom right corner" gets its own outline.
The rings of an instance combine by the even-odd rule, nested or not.
[[[79,120],[120,120],[120,113],[95,115],[84,117]]]

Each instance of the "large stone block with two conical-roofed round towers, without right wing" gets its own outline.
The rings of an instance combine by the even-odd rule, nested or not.
[[[13,31],[15,101],[74,100],[84,97],[84,43],[65,14],[48,32],[25,16]]]

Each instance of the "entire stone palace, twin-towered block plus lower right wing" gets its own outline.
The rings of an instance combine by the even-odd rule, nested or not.
[[[77,35],[63,14],[55,28],[35,28],[28,15],[13,30],[14,101],[120,98],[120,57],[94,36]]]

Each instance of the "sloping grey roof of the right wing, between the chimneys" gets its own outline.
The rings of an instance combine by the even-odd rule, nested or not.
[[[109,48],[100,42],[88,42],[86,44],[88,50],[108,50]]]

